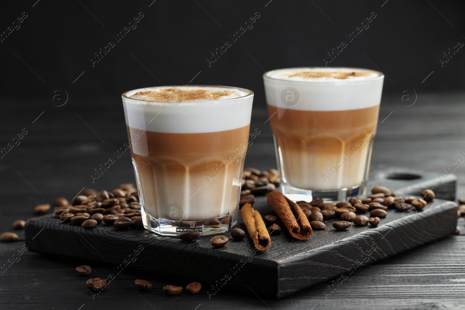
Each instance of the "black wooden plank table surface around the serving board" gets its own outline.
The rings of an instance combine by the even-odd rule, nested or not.
[[[461,153],[465,152],[465,94],[423,94],[410,107],[402,106],[401,97],[382,100],[372,169],[395,165],[439,175],[458,157],[465,159]],[[19,116],[20,103],[13,101],[16,105],[4,111],[11,117],[2,119],[1,142],[6,145],[23,128],[27,134],[0,160],[0,231],[12,231],[15,219],[33,217],[36,204],[59,196],[72,198],[83,187],[113,189],[133,182],[129,153],[95,183],[91,178],[94,169],[126,142],[118,96],[99,103],[80,105],[76,100],[60,108],[51,106],[41,115],[40,107],[27,117]],[[276,166],[267,118],[265,109],[254,109],[251,131],[258,128],[260,133],[248,149],[246,166]],[[454,174],[458,197],[465,196],[465,167],[459,165]],[[463,218],[458,225],[464,228]],[[86,278],[77,276],[75,267],[89,264],[93,276],[103,278],[116,274],[113,266],[30,251],[13,257],[24,244],[24,232],[18,235],[20,241],[0,244],[1,265],[16,260],[0,274],[0,309],[465,309],[463,233],[356,270],[345,281],[328,281],[280,300],[264,299],[252,291],[247,295],[219,291],[211,299],[206,291],[166,297],[161,290],[165,284],[187,283],[129,267],[93,298]],[[151,281],[152,290],[136,291],[137,278]]]

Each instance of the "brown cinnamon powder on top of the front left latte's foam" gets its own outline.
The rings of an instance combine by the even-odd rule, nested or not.
[[[175,88],[163,88],[159,91],[137,92],[131,96],[133,99],[147,101],[212,101],[241,97],[237,92],[212,91],[207,89],[180,90]]]

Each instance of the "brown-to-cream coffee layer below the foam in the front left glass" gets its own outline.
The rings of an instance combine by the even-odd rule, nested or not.
[[[126,127],[134,141],[138,130]],[[148,213],[155,218],[205,220],[233,212],[248,135],[249,125],[211,133],[141,134],[131,151]]]

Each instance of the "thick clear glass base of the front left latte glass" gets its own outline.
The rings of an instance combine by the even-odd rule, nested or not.
[[[178,236],[188,231],[199,231],[200,236],[206,236],[230,230],[237,223],[238,211],[202,221],[174,221],[154,218],[144,208],[141,208],[141,216],[144,227],[160,236]]]

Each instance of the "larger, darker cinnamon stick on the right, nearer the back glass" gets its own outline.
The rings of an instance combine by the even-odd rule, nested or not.
[[[304,211],[299,205],[287,198],[279,191],[272,191],[268,194],[268,204],[278,215],[292,237],[305,240],[312,236],[312,227],[308,223]]]

